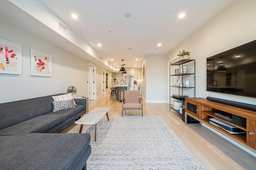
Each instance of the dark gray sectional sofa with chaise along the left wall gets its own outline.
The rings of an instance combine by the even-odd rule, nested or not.
[[[0,169],[81,170],[90,156],[90,134],[58,133],[86,112],[86,98],[53,112],[55,94],[0,104]]]

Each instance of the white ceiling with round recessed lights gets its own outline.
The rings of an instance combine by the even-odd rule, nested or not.
[[[116,63],[121,66],[121,60],[124,59],[126,67],[134,67],[135,64],[141,67],[147,54],[167,54],[234,2],[234,0],[41,1],[96,49],[103,59],[113,66]],[[130,13],[131,17],[125,18],[125,13]],[[180,19],[178,17],[180,13],[185,13],[186,16]],[[76,14],[78,19],[73,19],[72,14]],[[98,47],[98,43],[102,46]],[[162,46],[158,47],[158,43]],[[128,50],[129,48],[132,50]]]

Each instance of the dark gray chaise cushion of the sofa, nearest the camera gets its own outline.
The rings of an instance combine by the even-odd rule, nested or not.
[[[90,134],[0,136],[0,169],[76,170],[90,156]]]

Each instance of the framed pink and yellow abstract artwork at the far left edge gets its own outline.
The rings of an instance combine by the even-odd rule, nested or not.
[[[0,73],[21,74],[21,45],[1,38]]]

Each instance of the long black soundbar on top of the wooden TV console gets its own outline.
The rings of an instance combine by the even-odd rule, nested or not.
[[[230,100],[218,99],[218,98],[213,98],[213,97],[207,97],[206,99],[210,100],[212,102],[217,102],[217,103],[226,104],[229,106],[240,107],[242,109],[256,111],[256,105],[252,105],[252,104],[234,102],[234,101],[230,101]]]

